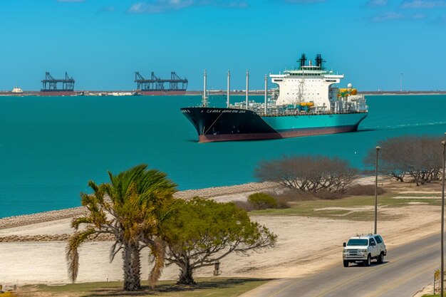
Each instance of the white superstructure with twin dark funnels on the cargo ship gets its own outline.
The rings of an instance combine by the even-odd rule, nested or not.
[[[344,75],[326,71],[323,68],[320,54],[316,56],[315,63],[308,61],[309,63],[306,65],[305,54],[301,56],[299,62],[299,69],[287,70],[283,74],[269,75],[271,82],[279,85],[276,105],[310,103],[316,110],[334,113],[343,112],[347,107],[349,110],[352,108],[353,110],[367,109],[363,96],[356,95],[356,90],[351,89],[351,84],[348,89],[331,87],[333,84],[340,83]],[[341,95],[340,90],[348,91]]]

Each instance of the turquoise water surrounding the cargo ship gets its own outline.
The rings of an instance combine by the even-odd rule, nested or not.
[[[225,100],[213,97],[210,103],[224,106]],[[253,182],[260,160],[281,155],[338,156],[362,168],[380,140],[446,132],[445,95],[383,95],[368,96],[370,113],[359,132],[201,144],[179,110],[199,101],[0,97],[0,217],[79,206],[89,179],[105,182],[107,170],[140,163],[167,172],[179,189],[197,189]]]

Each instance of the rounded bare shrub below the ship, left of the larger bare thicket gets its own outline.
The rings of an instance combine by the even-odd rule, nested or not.
[[[344,160],[311,155],[262,161],[254,170],[254,175],[262,182],[278,182],[302,192],[344,192],[357,174],[358,170]]]

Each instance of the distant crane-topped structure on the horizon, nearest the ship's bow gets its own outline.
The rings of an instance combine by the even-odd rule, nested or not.
[[[158,78],[153,72],[150,73],[150,79],[145,79],[137,71],[135,83],[135,95],[185,95],[187,89],[187,78],[180,78],[174,71],[170,73],[170,79]]]

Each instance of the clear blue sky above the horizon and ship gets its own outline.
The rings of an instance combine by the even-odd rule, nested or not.
[[[38,90],[46,71],[76,90],[176,71],[199,90],[204,68],[209,88],[231,70],[242,89],[247,69],[262,88],[301,53],[361,90],[446,90],[446,0],[1,0],[0,40],[0,90]]]

